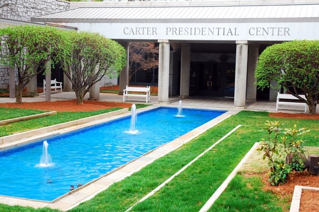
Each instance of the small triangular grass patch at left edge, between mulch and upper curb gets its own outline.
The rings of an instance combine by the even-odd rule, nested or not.
[[[24,116],[31,116],[35,114],[42,114],[46,112],[47,111],[0,107],[0,121],[24,117]]]

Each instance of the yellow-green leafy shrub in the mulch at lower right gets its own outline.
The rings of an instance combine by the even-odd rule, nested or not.
[[[303,158],[300,157],[304,153],[303,140],[298,140],[297,136],[308,132],[304,128],[283,129],[278,121],[267,121],[264,130],[268,131],[268,138],[260,141],[261,147],[257,150],[264,151],[263,160],[268,158],[268,181],[271,185],[284,184],[289,179],[289,173],[293,170],[303,171]],[[286,164],[284,158],[286,155],[292,155],[292,162]]]

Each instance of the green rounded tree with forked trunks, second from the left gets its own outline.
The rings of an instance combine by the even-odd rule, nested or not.
[[[61,64],[72,82],[76,103],[83,104],[89,89],[104,75],[117,77],[126,65],[126,51],[122,45],[98,33],[69,32],[71,51]]]

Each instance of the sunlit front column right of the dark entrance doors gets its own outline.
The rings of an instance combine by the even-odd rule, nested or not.
[[[236,44],[234,107],[244,109],[246,105],[248,41],[237,40]]]

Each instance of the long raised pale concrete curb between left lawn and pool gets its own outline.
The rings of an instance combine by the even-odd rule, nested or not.
[[[39,135],[39,134],[47,133],[47,132],[50,132],[53,130],[59,130],[62,128],[71,127],[74,125],[80,125],[80,124],[84,124],[87,122],[92,122],[92,121],[96,121],[99,119],[104,119],[104,118],[107,118],[110,116],[116,116],[119,114],[128,113],[128,111],[129,111],[129,109],[127,109],[127,108],[121,109],[121,110],[117,110],[117,111],[113,111],[113,112],[109,112],[109,113],[105,113],[105,114],[100,114],[100,115],[96,115],[96,116],[91,116],[91,117],[87,117],[87,118],[83,118],[83,119],[78,119],[78,120],[74,120],[74,121],[70,121],[70,122],[57,124],[57,125],[52,125],[49,127],[43,127],[43,128],[39,128],[39,129],[34,129],[34,130],[26,131],[26,132],[21,132],[21,133],[17,133],[17,134],[13,134],[13,135],[0,137],[0,144],[9,143],[9,142],[21,140],[21,139],[26,139],[26,138],[34,136],[34,135]]]

